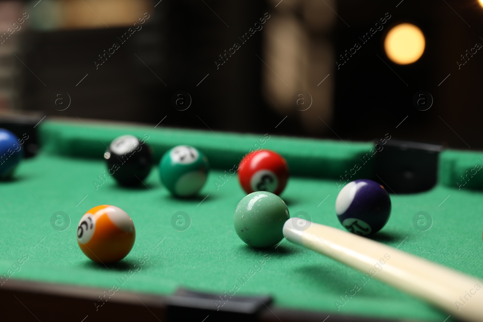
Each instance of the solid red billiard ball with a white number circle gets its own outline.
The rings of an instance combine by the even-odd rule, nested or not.
[[[288,175],[287,161],[270,150],[245,155],[238,167],[238,179],[247,194],[269,191],[280,195],[287,184]]]

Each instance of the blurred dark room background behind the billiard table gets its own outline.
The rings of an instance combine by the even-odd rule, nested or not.
[[[483,149],[482,17],[478,0],[0,1],[0,113]],[[404,23],[424,50],[398,64],[384,43]]]

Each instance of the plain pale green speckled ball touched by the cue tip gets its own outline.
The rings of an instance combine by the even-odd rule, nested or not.
[[[247,245],[265,248],[284,238],[282,228],[289,218],[284,200],[271,192],[257,191],[238,203],[233,225],[238,237]]]

